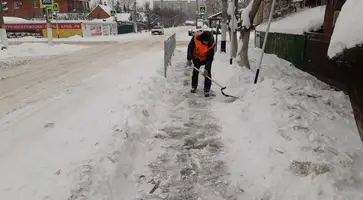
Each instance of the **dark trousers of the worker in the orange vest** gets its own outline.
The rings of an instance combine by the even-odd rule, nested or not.
[[[212,78],[212,73],[211,73],[212,62],[211,61],[201,61],[199,59],[195,59],[195,60],[193,60],[193,63],[194,63],[194,67],[196,67],[197,69],[200,69],[200,66],[204,65],[204,70],[207,70],[206,75],[209,76],[210,78]],[[199,75],[199,72],[193,68],[192,88],[198,87],[198,75]],[[208,78],[205,78],[204,79],[204,92],[209,92],[211,86],[212,86],[212,81],[209,80]]]

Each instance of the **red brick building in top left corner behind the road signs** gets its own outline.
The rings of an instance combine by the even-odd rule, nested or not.
[[[54,0],[59,4],[60,13],[88,12],[90,0]],[[8,0],[6,16],[33,18],[43,16],[39,0]]]

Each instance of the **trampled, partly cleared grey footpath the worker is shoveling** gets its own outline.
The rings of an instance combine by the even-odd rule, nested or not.
[[[139,199],[236,199],[241,191],[229,185],[225,163],[218,158],[224,146],[218,138],[221,127],[210,110],[210,99],[189,94],[190,68],[178,63],[171,70],[167,85],[174,92],[167,112],[172,122],[155,135],[166,146],[165,152],[149,164],[149,182],[155,186]],[[200,81],[203,87],[204,79]]]

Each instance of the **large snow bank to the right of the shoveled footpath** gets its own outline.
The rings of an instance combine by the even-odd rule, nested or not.
[[[255,70],[260,50],[249,55]],[[240,199],[362,198],[363,148],[349,98],[275,55],[265,55],[257,85],[254,73],[228,60],[217,54],[212,76],[240,99],[221,97],[210,110]]]

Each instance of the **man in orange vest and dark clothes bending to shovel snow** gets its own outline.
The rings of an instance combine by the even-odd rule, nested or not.
[[[212,77],[211,69],[212,62],[214,59],[214,37],[210,31],[204,31],[202,33],[197,32],[192,37],[188,45],[188,54],[187,54],[187,64],[188,66],[192,65],[192,61],[194,67],[199,70],[199,68],[204,65],[204,76]],[[191,93],[195,93],[198,87],[198,75],[199,71],[197,69],[193,69],[192,76],[192,89]],[[205,77],[204,80],[204,96],[209,97],[210,87],[212,85],[211,79]]]

